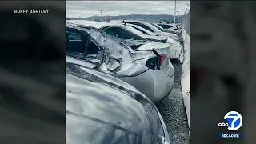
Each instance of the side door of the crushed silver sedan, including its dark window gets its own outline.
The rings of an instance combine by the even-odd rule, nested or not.
[[[104,61],[104,50],[99,48],[90,34],[74,29],[67,29],[66,34],[66,61],[90,68]]]

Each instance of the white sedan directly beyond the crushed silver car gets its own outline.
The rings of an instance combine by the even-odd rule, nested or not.
[[[176,58],[173,47],[169,43],[166,43],[167,38],[163,39],[147,36],[141,31],[138,31],[131,26],[125,26],[120,22],[106,23],[85,20],[74,20],[69,22],[74,22],[84,26],[94,26],[98,30],[102,30],[106,34],[116,37],[118,41],[122,41],[134,50],[152,50],[154,48],[159,54],[166,54],[167,58]],[[178,55],[178,52],[176,52],[176,54]]]

